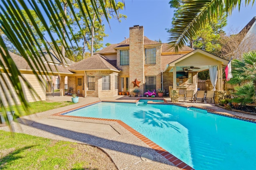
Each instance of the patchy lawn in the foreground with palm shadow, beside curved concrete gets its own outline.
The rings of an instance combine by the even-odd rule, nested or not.
[[[96,147],[0,130],[0,169],[116,170],[116,166]]]

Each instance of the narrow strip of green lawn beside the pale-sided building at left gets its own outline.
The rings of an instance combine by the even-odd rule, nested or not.
[[[30,103],[30,107],[29,107],[29,111],[27,112],[25,111],[22,106],[17,106],[21,113],[18,113],[18,108],[14,107],[13,111],[15,111],[15,115],[17,117],[20,116],[24,116],[24,115],[30,115],[30,114],[34,114],[34,113],[40,113],[42,111],[47,111],[47,110],[51,110],[51,109],[56,109],[59,107],[64,107],[64,106],[69,106],[72,105],[74,103],[72,102],[46,102],[46,101],[39,101],[39,102],[31,102]],[[7,110],[10,111],[10,108],[8,108]],[[2,109],[0,108],[0,112],[2,111]]]

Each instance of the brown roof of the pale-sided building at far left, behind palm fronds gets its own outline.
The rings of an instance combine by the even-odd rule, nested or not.
[[[16,55],[12,52],[9,52],[9,55],[12,57],[14,63],[16,64],[17,68],[19,70],[32,70],[28,64],[28,62],[21,56]],[[3,61],[2,55],[0,54],[0,60]],[[4,62],[2,62],[4,63]],[[32,64],[32,67],[36,69],[36,66],[33,64],[33,62],[30,62]],[[6,64],[4,63],[4,66],[6,67]],[[56,68],[55,68],[56,66]],[[58,65],[51,65],[51,64],[45,64],[46,70],[48,72],[58,72],[58,73],[69,73],[72,74],[66,67],[64,66],[58,66]],[[38,70],[36,70],[38,71]],[[40,70],[42,71],[42,70]]]

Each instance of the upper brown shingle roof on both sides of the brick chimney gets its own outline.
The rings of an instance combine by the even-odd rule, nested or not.
[[[152,41],[150,39],[148,39],[148,37],[144,36],[144,45],[153,45],[153,44],[162,44],[162,43],[158,43],[156,41]],[[116,50],[115,48],[118,48],[118,47],[129,47],[130,45],[130,38],[118,43],[118,44],[111,44],[109,45],[108,47],[100,50],[100,51],[97,51],[96,53],[94,54],[106,54],[106,53],[116,53]]]

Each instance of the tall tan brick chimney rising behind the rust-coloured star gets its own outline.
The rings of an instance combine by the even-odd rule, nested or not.
[[[133,81],[140,81],[140,91],[144,91],[144,29],[143,26],[130,27],[130,50],[129,50],[129,91],[134,90]]]

